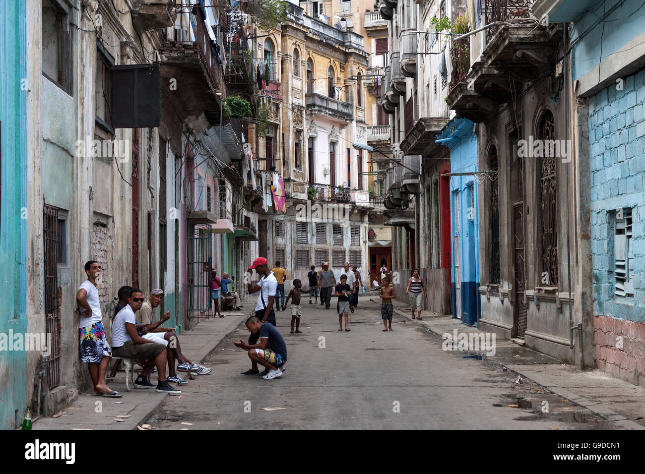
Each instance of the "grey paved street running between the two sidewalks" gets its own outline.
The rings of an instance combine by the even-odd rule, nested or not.
[[[239,375],[250,367],[246,351],[231,342],[246,341],[242,323],[204,360],[213,372],[182,386],[181,398],[168,396],[149,423],[175,430],[612,428],[530,381],[516,385],[500,368],[443,351],[441,337],[421,324],[395,315],[394,330],[382,332],[379,308],[366,299],[350,314],[350,332],[337,331],[334,306],[303,302],[303,334],[290,334],[288,311],[277,313],[288,348],[282,377]],[[540,409],[543,400],[549,413]]]

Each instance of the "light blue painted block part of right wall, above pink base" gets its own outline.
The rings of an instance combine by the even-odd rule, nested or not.
[[[589,102],[593,312],[645,321],[645,75],[626,77],[624,90],[608,86]],[[635,288],[617,298],[613,229],[618,208],[631,208]],[[630,304],[624,303],[633,303]]]

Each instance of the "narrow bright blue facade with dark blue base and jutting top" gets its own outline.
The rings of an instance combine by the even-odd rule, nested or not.
[[[446,140],[447,139],[447,140]],[[467,173],[477,171],[477,135],[473,133],[473,123],[468,119],[450,121],[437,136],[450,148],[450,172]],[[459,190],[459,215],[455,212],[455,191]],[[457,317],[457,291],[455,289],[455,244],[457,235],[455,220],[459,219],[461,253],[461,308],[464,324],[477,324],[481,316],[479,299],[479,203],[477,201],[477,181],[473,175],[450,177],[450,219],[452,235],[452,301],[453,317]],[[474,206],[471,206],[473,194]]]

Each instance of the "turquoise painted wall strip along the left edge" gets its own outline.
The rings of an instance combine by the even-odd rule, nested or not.
[[[25,0],[0,2],[0,333],[26,333],[26,16]],[[28,84],[24,83],[25,89]],[[0,351],[0,429],[26,409],[26,352]],[[29,381],[32,382],[31,380]],[[16,417],[17,412],[17,417]]]

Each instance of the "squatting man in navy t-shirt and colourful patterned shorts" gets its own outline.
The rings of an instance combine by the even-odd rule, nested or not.
[[[257,373],[257,364],[260,364],[267,371],[263,379],[281,377],[283,370],[280,368],[286,363],[286,344],[281,333],[270,322],[261,322],[255,316],[246,321],[246,327],[252,334],[258,335],[259,344],[244,344],[241,339],[240,342],[233,341],[233,344],[248,351],[248,357],[253,365],[251,370]]]

